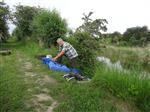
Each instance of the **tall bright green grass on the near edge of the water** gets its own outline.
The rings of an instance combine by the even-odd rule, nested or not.
[[[140,72],[122,72],[108,69],[104,65],[97,68],[92,85],[109,90],[115,96],[135,102],[144,112],[150,110],[150,78],[139,78]]]

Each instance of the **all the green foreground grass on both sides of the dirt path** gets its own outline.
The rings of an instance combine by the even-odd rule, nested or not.
[[[134,109],[134,103],[138,106],[141,99],[143,99],[141,103],[143,105],[139,105],[140,109],[143,112],[148,109],[149,86],[147,85],[149,85],[149,80],[139,81],[136,78],[136,73],[131,76],[131,74],[107,70],[100,66],[101,69],[96,71],[91,83],[79,84],[76,81],[68,83],[61,77],[64,73],[51,71],[34,58],[37,54],[52,54],[54,56],[56,48],[39,48],[34,42],[28,44],[8,43],[3,44],[1,48],[6,47],[12,49],[13,54],[0,56],[1,112],[34,112],[35,107],[27,109],[24,102],[30,99],[33,94],[42,93],[42,88],[47,88],[49,95],[57,100],[59,105],[55,108],[55,112],[125,112],[123,108],[128,103],[131,104],[129,107],[133,107],[133,112],[137,112],[138,109]],[[19,62],[20,58],[24,60],[23,62],[28,60],[33,64],[32,72],[39,74],[39,78],[42,78],[44,74],[49,74],[57,83],[39,85],[39,89],[35,89],[35,79],[31,78],[28,79],[30,83],[25,84],[24,73],[20,67],[22,63]],[[29,88],[32,89],[30,93],[27,92]],[[113,96],[116,97],[112,98]],[[118,100],[124,102],[125,105],[118,107],[117,105],[120,103]],[[51,103],[45,102],[45,106]]]

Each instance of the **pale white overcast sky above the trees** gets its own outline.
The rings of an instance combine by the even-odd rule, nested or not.
[[[148,26],[150,29],[150,0],[4,0],[11,8],[14,5],[40,6],[56,9],[67,20],[71,29],[79,27],[83,13],[93,11],[92,19],[106,19],[107,33],[125,32],[127,28]],[[14,25],[10,24],[10,32]]]

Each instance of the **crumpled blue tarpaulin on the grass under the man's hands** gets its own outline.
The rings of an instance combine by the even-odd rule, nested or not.
[[[77,70],[76,68],[69,68],[66,65],[63,65],[63,64],[53,61],[51,58],[43,57],[42,62],[44,64],[48,65],[48,68],[51,70],[57,70],[57,71],[62,71],[62,72],[66,72],[66,73],[73,72],[75,74],[79,73],[79,70]]]

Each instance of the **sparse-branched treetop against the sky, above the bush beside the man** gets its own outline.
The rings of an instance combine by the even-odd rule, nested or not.
[[[77,32],[87,32],[90,34],[91,37],[100,38],[101,31],[107,31],[106,24],[108,24],[106,19],[95,19],[92,20],[90,17],[93,12],[89,12],[88,15],[83,14],[82,20],[84,23],[77,28]]]

